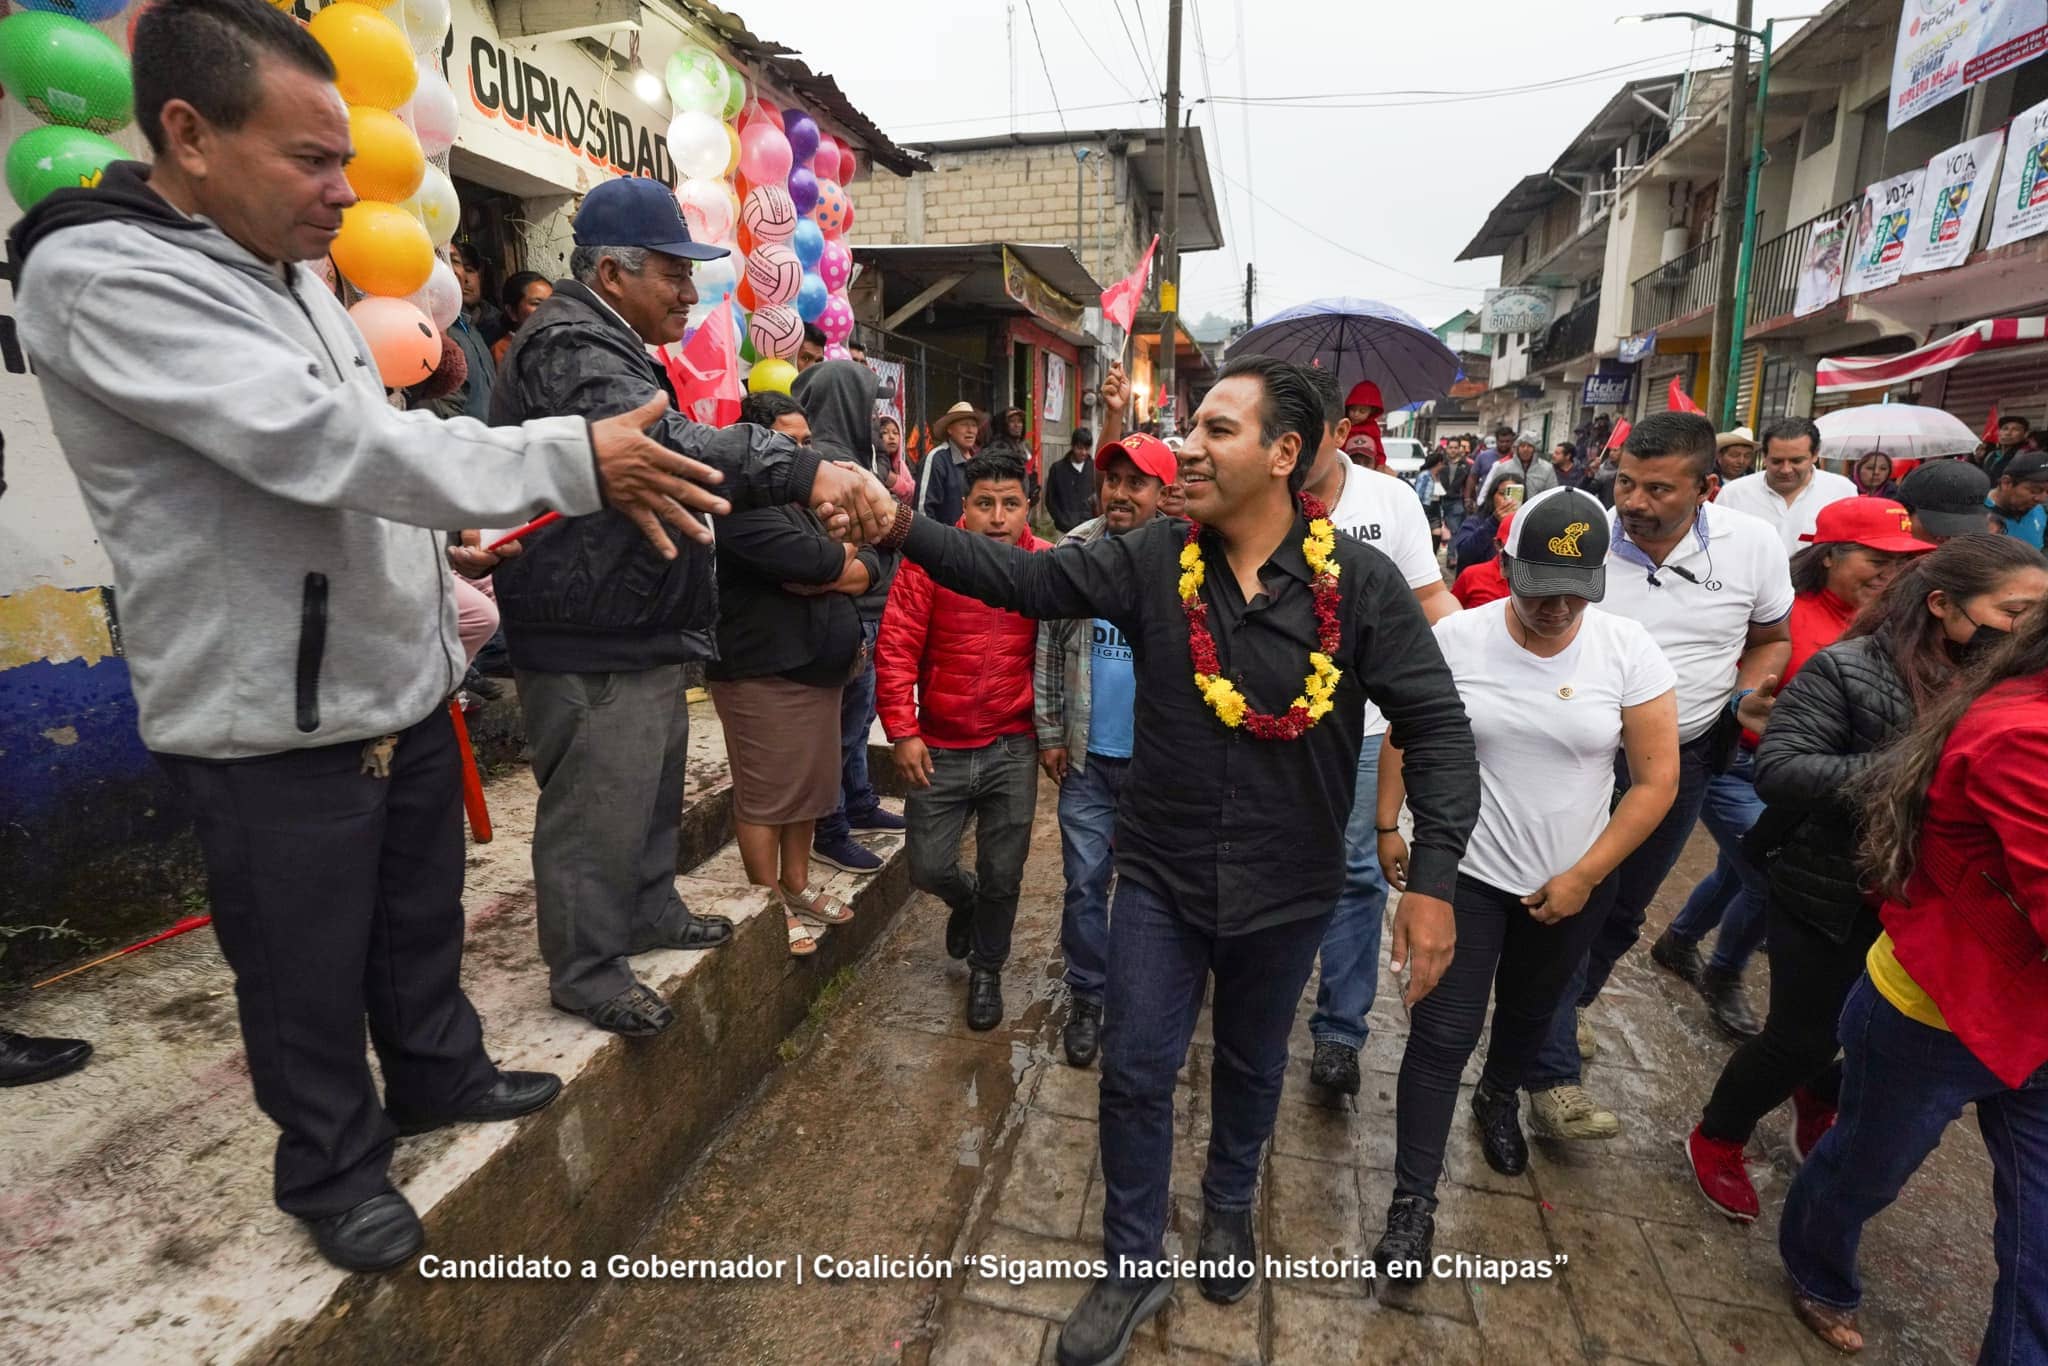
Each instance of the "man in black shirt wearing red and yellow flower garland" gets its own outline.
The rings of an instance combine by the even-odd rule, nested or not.
[[[1196,541],[1186,522],[1155,518],[1122,537],[1030,555],[907,508],[883,541],[901,543],[954,592],[1026,616],[1102,616],[1133,643],[1135,733],[1116,815],[1102,1038],[1110,1274],[1067,1317],[1059,1341],[1067,1366],[1114,1360],[1171,1294],[1155,1264],[1174,1163],[1174,1077],[1210,973],[1198,1257],[1212,1266],[1200,1290],[1231,1303],[1255,1282],[1257,1161],[1280,1102],[1294,1008],[1343,883],[1368,696],[1409,756],[1415,868],[1391,952],[1397,969],[1411,965],[1405,999],[1425,995],[1450,961],[1448,899],[1479,813],[1473,733],[1393,561],[1327,524],[1311,528],[1296,506],[1321,436],[1311,377],[1245,356],[1225,367],[1180,455]],[[1325,555],[1335,584],[1311,569]],[[1184,582],[1194,592],[1186,606]],[[1323,649],[1319,612],[1339,637],[1325,659],[1341,672],[1327,709],[1317,705],[1327,674],[1311,657]],[[1200,688],[1196,623],[1214,651]],[[1290,707],[1296,698],[1303,711]],[[1274,731],[1292,737],[1260,737]]]

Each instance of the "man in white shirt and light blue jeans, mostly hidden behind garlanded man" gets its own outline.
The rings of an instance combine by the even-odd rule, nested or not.
[[[1323,444],[1309,469],[1305,494],[1329,508],[1329,520],[1354,541],[1362,541],[1395,561],[1401,580],[1415,590],[1430,625],[1458,610],[1444,588],[1444,567],[1436,563],[1436,541],[1421,500],[1401,479],[1356,465],[1343,455],[1343,403],[1329,371],[1311,369],[1323,397]],[[1380,987],[1380,928],[1386,911],[1386,879],[1380,874],[1378,834],[1372,829],[1380,786],[1380,737],[1386,717],[1366,702],[1366,739],[1358,750],[1358,795],[1343,829],[1343,891],[1337,911],[1323,932],[1317,961],[1315,1014],[1309,1036],[1315,1059],[1309,1081],[1339,1096],[1358,1094],[1358,1051],[1366,1047],[1366,1012]]]

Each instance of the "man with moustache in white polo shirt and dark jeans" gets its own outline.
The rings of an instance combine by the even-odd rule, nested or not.
[[[1628,434],[1614,477],[1602,608],[1647,627],[1677,670],[1679,780],[1671,811],[1616,872],[1606,924],[1522,1079],[1530,1126],[1550,1139],[1620,1133],[1620,1120],[1579,1085],[1579,1012],[1642,934],[1642,915],[1692,836],[1708,778],[1733,760],[1739,731],[1761,733],[1769,723],[1772,692],[1792,657],[1788,559],[1769,526],[1729,510],[1726,494],[1706,502],[1712,471],[1714,426],[1698,414],[1655,414]],[[1626,768],[1616,768],[1616,780],[1626,791]]]

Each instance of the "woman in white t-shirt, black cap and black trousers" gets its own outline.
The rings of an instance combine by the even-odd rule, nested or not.
[[[1518,1079],[1614,897],[1614,868],[1677,795],[1677,676],[1640,625],[1587,606],[1606,594],[1608,514],[1550,489],[1516,514],[1509,596],[1436,625],[1479,748],[1479,823],[1458,866],[1458,950],[1409,1014],[1395,1108],[1395,1198],[1372,1260],[1427,1268],[1436,1182],[1464,1071],[1493,999],[1473,1118],[1487,1165],[1528,1165]],[[1614,801],[1616,754],[1628,791]],[[1401,887],[1405,784],[1380,758],[1380,866]],[[1612,815],[1610,815],[1612,807]],[[1386,1272],[1405,1280],[1397,1272]]]

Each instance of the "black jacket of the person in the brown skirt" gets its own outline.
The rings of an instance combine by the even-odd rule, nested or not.
[[[866,367],[862,367],[866,369]],[[842,592],[793,594],[782,584],[829,584],[846,551],[807,508],[782,504],[719,518],[719,657],[709,678],[770,678],[834,686],[860,649],[860,614]]]

